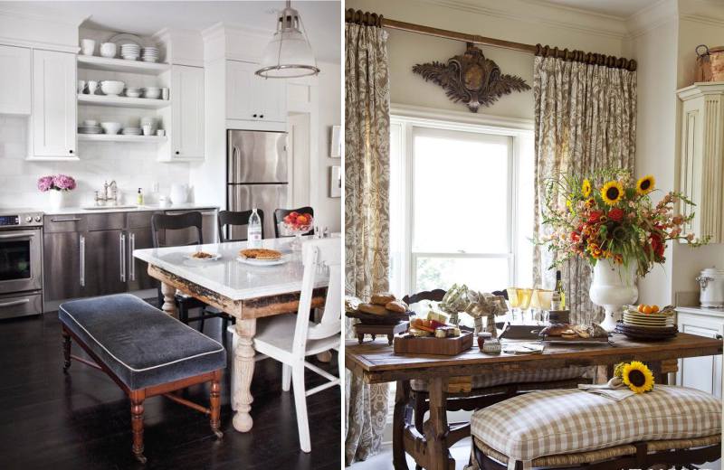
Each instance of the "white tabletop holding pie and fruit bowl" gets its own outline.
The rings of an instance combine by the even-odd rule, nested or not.
[[[301,264],[301,252],[291,251],[292,240],[292,238],[262,240],[264,248],[278,249],[290,257],[287,263],[278,266],[250,266],[237,261],[239,250],[246,248],[245,241],[136,249],[133,256],[232,300],[246,300],[301,290],[304,268]],[[184,258],[197,249],[209,253],[221,253],[222,258],[216,261]],[[325,287],[328,284],[329,274],[320,273],[315,287]]]

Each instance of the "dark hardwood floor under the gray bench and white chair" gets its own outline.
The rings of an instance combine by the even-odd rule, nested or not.
[[[193,325],[193,324],[192,324]],[[221,340],[221,320],[205,334]],[[227,338],[229,346],[231,337]],[[74,347],[73,353],[80,354]],[[230,357],[230,354],[227,354]],[[316,362],[310,358],[311,362]],[[317,364],[337,375],[332,362]],[[129,400],[103,372],[72,362],[62,372],[61,324],[55,313],[0,321],[0,469],[315,469],[341,468],[340,395],[332,387],[308,397],[311,453],[300,451],[292,392],[281,391],[281,364],[256,363],[252,432],[233,429],[229,367],[222,389],[222,430],[216,441],[208,418],[163,397],[148,399],[145,455],[133,458]],[[324,382],[307,372],[308,389]],[[207,406],[207,386],[185,397]]]

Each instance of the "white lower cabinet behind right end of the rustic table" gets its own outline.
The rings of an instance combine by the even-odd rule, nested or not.
[[[677,308],[681,333],[721,339],[724,311],[701,308]],[[689,357],[679,360],[676,383],[721,397],[721,356]]]

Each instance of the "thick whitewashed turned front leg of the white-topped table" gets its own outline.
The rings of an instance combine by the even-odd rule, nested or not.
[[[236,382],[232,400],[236,404],[233,428],[239,432],[252,429],[252,377],[254,375],[253,338],[256,319],[236,320],[237,343],[233,353],[233,380]]]

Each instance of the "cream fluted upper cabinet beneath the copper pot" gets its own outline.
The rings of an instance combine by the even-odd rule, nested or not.
[[[695,83],[678,91],[681,99],[679,191],[696,206],[681,212],[695,216],[684,228],[697,237],[724,242],[724,82]]]

